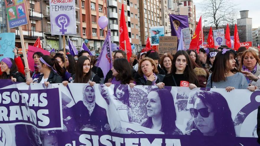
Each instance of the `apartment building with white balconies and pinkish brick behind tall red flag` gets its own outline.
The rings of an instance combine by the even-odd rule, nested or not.
[[[121,12],[122,4],[124,4],[124,12]],[[130,43],[135,45],[136,51],[140,50],[139,0],[109,0],[108,11],[112,43],[119,44],[120,15],[121,13],[124,13],[126,25],[128,26]]]

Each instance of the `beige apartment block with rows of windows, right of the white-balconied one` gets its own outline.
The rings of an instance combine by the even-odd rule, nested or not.
[[[140,34],[141,34],[140,40],[141,40],[142,47],[145,46],[147,37],[149,37],[151,40],[150,28],[153,26],[163,25],[161,9],[162,9],[161,0],[139,1]],[[165,18],[163,21],[165,21]]]

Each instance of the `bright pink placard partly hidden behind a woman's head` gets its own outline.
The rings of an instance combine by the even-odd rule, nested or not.
[[[28,63],[29,63],[29,68],[30,70],[34,70],[34,60],[33,60],[33,54],[35,52],[41,52],[43,53],[43,55],[50,55],[50,52],[47,51],[47,50],[42,50],[42,49],[39,49],[38,47],[33,47],[33,46],[28,46]]]

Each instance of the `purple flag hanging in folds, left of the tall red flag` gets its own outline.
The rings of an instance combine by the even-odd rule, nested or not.
[[[111,70],[113,66],[110,30],[108,30],[105,42],[98,57],[97,66],[103,70],[104,77],[107,75],[108,71]]]

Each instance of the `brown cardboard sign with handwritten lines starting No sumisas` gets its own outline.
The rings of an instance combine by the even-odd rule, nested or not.
[[[171,55],[176,54],[177,41],[178,41],[177,36],[160,37],[158,53],[159,54],[168,53]]]

